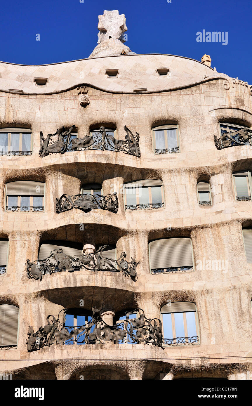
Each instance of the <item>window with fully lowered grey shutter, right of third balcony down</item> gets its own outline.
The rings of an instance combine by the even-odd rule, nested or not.
[[[191,239],[162,238],[151,241],[149,259],[152,274],[193,271]]]

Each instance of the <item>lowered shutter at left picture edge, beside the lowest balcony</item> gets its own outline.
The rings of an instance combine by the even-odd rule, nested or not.
[[[0,346],[16,346],[19,308],[0,304]]]

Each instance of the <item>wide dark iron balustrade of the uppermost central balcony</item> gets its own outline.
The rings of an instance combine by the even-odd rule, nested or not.
[[[71,132],[76,132],[75,125],[69,130],[62,127],[62,130],[57,130],[54,134],[48,134],[46,138],[41,131],[39,156],[44,157],[51,153],[65,153],[68,151],[106,150],[122,151],[140,158],[139,134],[137,132],[135,135],[132,134],[126,125],[124,130],[126,131],[125,140],[118,140],[112,134],[106,134],[104,127],[100,127],[99,131],[94,131],[84,138],[73,138]]]

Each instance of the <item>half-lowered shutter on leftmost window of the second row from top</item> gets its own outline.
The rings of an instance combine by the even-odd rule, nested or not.
[[[6,184],[7,196],[45,196],[45,184],[33,181],[17,181]]]

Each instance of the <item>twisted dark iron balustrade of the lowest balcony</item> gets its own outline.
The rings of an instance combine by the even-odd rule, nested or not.
[[[67,309],[62,309],[58,318],[47,316],[47,324],[34,333],[29,326],[26,339],[28,352],[40,350],[53,344],[107,344],[120,341],[131,344],[151,344],[163,348],[162,323],[159,319],[148,319],[142,309],[135,309],[125,314],[125,319],[109,326],[101,317],[101,311],[92,307],[91,320],[84,326],[65,326]],[[63,320],[60,322],[60,313]],[[138,318],[130,319],[130,315],[138,312]]]

